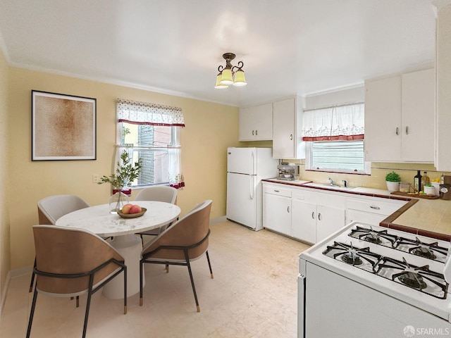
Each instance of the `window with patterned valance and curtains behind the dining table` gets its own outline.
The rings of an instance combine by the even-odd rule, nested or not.
[[[185,125],[180,108],[118,99],[118,154],[127,149],[133,162],[142,158],[140,177],[132,187],[185,185],[179,132]]]

